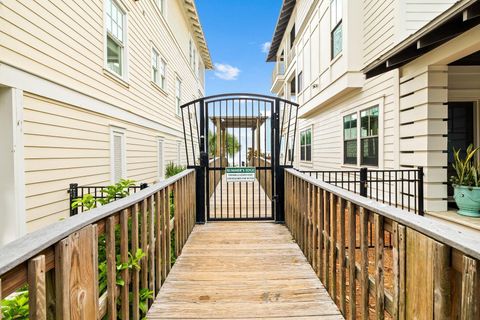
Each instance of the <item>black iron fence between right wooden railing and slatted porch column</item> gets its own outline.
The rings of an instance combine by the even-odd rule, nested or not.
[[[298,169],[297,169],[298,170]],[[423,168],[399,170],[298,170],[334,186],[424,215]]]

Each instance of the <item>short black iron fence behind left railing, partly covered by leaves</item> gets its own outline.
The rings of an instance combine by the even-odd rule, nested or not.
[[[138,186],[130,186],[127,188],[129,194],[133,194],[139,190],[145,189],[148,187],[147,183],[141,183]],[[79,205],[76,208],[73,208],[73,203],[79,199],[83,198],[83,196],[90,194],[92,195],[93,199],[95,201],[98,201],[100,199],[105,199],[107,198],[107,194],[104,192],[104,190],[108,188],[108,186],[79,186],[78,183],[70,183],[70,187],[68,188],[68,193],[69,193],[69,209],[70,209],[70,216],[74,216],[78,213],[81,213],[84,211],[84,206]],[[120,199],[123,196],[121,195],[115,195],[114,199]]]

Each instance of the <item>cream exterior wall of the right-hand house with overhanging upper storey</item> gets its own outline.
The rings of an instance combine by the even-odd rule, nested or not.
[[[296,93],[300,104],[298,133],[312,128],[313,142],[312,161],[300,161],[297,152],[295,167],[311,170],[359,168],[359,163],[344,164],[343,117],[375,105],[379,106],[380,121],[378,167],[374,168],[412,168],[419,165],[405,161],[406,156],[400,153],[403,130],[400,120],[400,72],[394,70],[365,79],[361,70],[454,2],[344,0],[343,50],[334,59],[330,56],[331,2],[311,1],[310,10],[301,8],[305,1],[297,3],[291,18],[300,30],[295,45],[297,57],[292,62],[294,65],[288,68],[303,72],[304,88]],[[303,14],[307,11],[311,14]],[[302,12],[302,21],[299,21],[298,12]],[[284,42],[288,40],[288,32],[289,27]],[[287,88],[288,83],[285,82],[282,90],[274,93],[286,92]],[[285,97],[289,98],[288,95]],[[296,141],[296,150],[299,150],[299,137]]]

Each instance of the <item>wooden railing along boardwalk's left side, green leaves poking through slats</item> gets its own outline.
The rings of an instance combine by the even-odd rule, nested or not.
[[[28,284],[31,319],[140,319],[142,290],[160,290],[171,237],[178,256],[195,210],[195,172],[186,170],[30,233],[0,248],[0,300]]]

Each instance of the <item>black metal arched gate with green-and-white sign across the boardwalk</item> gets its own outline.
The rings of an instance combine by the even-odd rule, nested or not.
[[[197,222],[283,221],[283,170],[292,167],[298,105],[225,94],[181,106],[188,166],[197,170]]]

